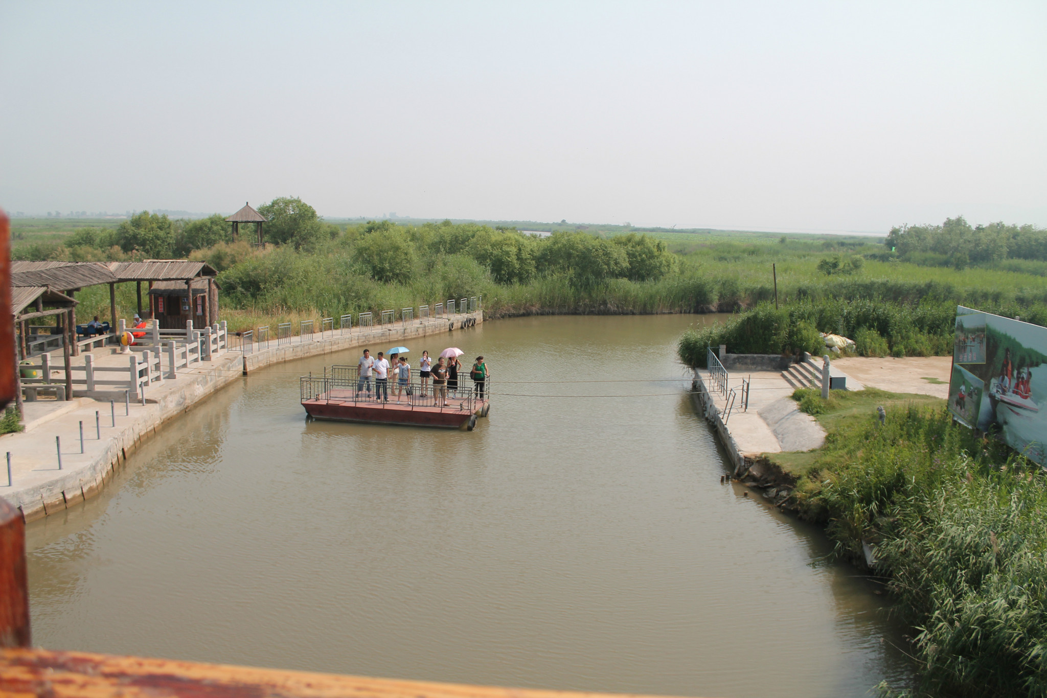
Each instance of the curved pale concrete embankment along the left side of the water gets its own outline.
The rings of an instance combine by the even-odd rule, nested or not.
[[[255,344],[253,352],[246,355],[232,350],[190,369],[179,369],[177,378],[151,387],[144,404],[126,406],[122,393],[113,405],[109,400],[85,397],[46,406],[27,403],[43,411],[26,420],[25,431],[0,437],[0,453],[10,453],[12,467],[12,485],[3,487],[4,464],[0,461],[0,497],[18,506],[26,521],[61,512],[96,495],[113,471],[165,422],[216,390],[242,380],[245,373],[355,346],[371,345],[376,352],[383,351],[407,339],[445,334],[483,321],[483,311],[477,311],[353,330],[344,335],[314,335],[304,341],[292,337],[280,345],[273,340],[269,346]]]

